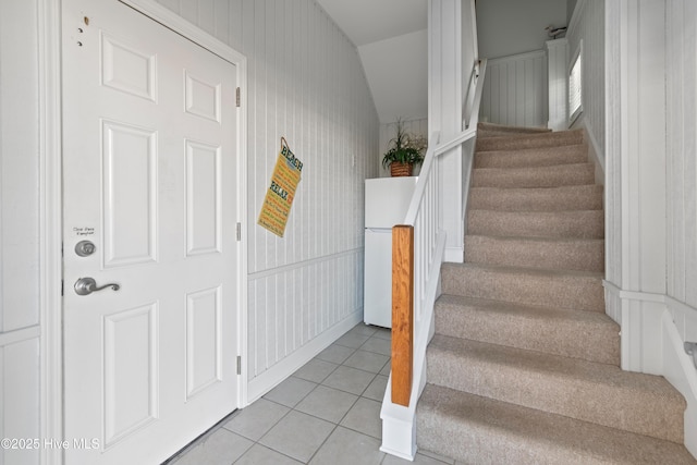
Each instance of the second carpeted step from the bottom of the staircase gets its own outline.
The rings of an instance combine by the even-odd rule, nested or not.
[[[682,443],[686,403],[665,379],[543,352],[436,334],[428,382]]]

